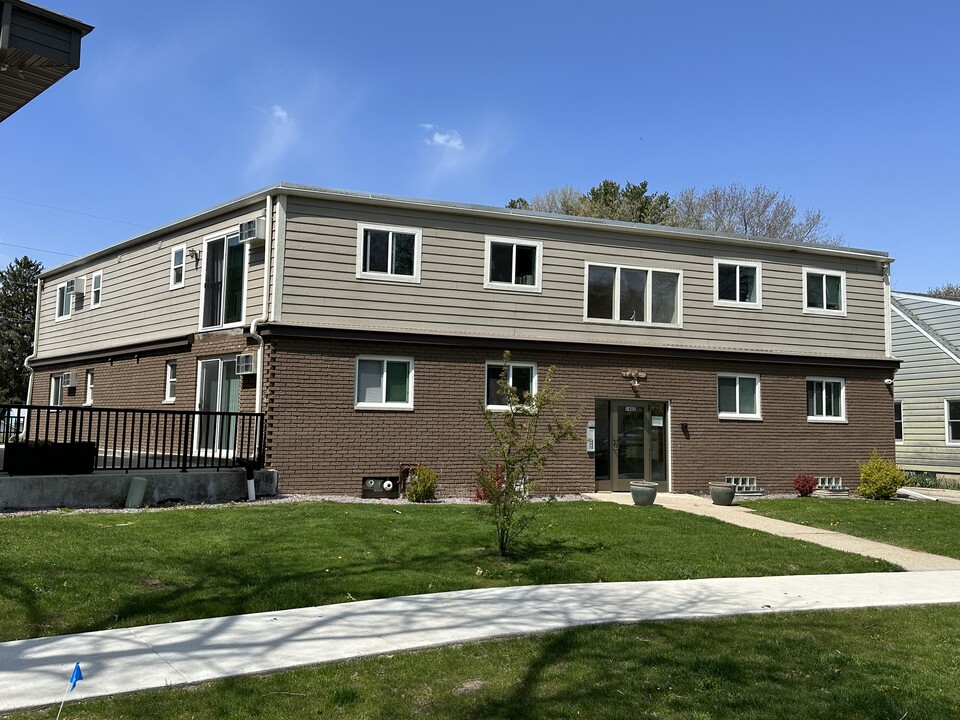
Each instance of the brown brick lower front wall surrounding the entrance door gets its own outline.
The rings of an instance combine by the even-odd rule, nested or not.
[[[401,462],[420,462],[442,472],[444,494],[472,494],[478,456],[490,441],[476,402],[485,361],[500,353],[287,337],[271,343],[267,464],[279,470],[285,491],[357,495],[364,475],[396,475]],[[415,409],[355,410],[358,354],[413,357]],[[633,398],[622,369],[645,371],[642,398],[671,404],[674,491],[705,491],[725,475],[755,475],[768,492],[789,492],[801,472],[841,475],[855,485],[857,463],[874,448],[893,457],[893,403],[883,383],[889,370],[552,351],[514,352],[513,359],[537,362],[541,379],[548,365],[557,366],[568,408],[584,408],[581,433],[595,398]],[[717,418],[718,371],[761,375],[762,422]],[[809,375],[846,380],[847,423],[807,422]],[[583,440],[563,446],[544,478],[554,493],[591,491],[594,482]]]

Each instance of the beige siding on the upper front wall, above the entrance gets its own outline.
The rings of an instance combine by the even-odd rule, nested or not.
[[[357,279],[358,222],[421,228],[420,283]],[[543,243],[542,292],[483,287],[487,235]],[[883,276],[873,261],[778,248],[745,253],[706,241],[295,197],[289,199],[285,246],[282,311],[276,319],[288,324],[803,355],[885,354]],[[762,263],[762,309],[714,305],[715,257]],[[584,321],[586,262],[680,271],[682,327]],[[846,317],[803,313],[805,266],[846,272]]]

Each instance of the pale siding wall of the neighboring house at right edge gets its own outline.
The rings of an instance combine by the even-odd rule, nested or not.
[[[946,444],[944,400],[960,399],[960,364],[896,313],[892,329],[894,355],[902,361],[894,382],[903,416],[897,462],[907,469],[958,473],[960,447]]]

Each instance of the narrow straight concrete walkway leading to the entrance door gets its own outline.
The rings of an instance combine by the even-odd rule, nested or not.
[[[591,500],[633,505],[630,493],[589,493],[584,497]],[[846,501],[834,500],[831,502]],[[699,495],[657,493],[657,499],[654,504],[662,505],[670,510],[681,510],[696,515],[716,518],[723,522],[750,528],[751,530],[759,530],[760,532],[770,533],[771,535],[805,540],[817,545],[833,548],[834,550],[842,550],[844,552],[856,553],[857,555],[886,560],[908,571],[960,570],[960,560],[955,558],[931,555],[930,553],[920,552],[919,550],[908,550],[907,548],[897,547],[896,545],[888,545],[886,543],[876,542],[875,540],[865,540],[864,538],[844,535],[843,533],[833,532],[832,530],[823,530],[808,525],[798,525],[797,523],[786,522],[784,520],[775,520],[764,517],[763,515],[758,515],[753,510],[739,505],[726,507],[714,505],[710,498],[700,497]]]

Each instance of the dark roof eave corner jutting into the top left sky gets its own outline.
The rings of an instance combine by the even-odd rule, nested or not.
[[[92,27],[21,0],[0,0],[0,122],[80,67]]]

